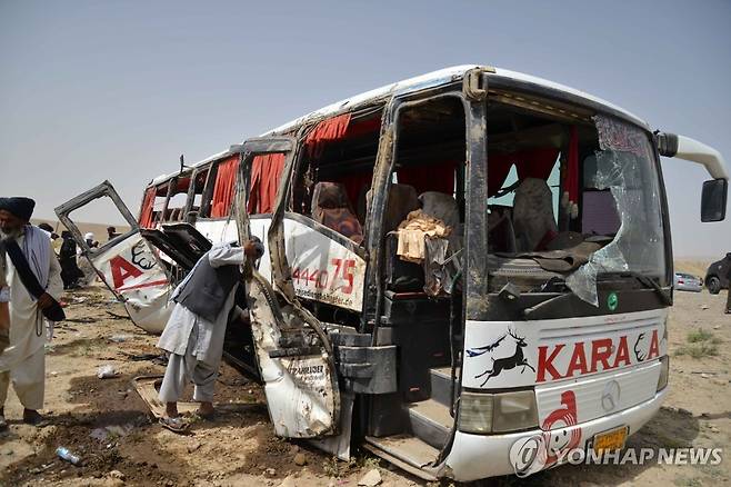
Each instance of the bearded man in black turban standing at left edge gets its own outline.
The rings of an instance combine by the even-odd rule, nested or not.
[[[0,198],[0,236],[4,255],[4,280],[10,286],[9,347],[0,355],[0,417],[4,417],[8,387],[12,380],[23,405],[23,421],[37,425],[38,409],[43,407],[46,379],[44,317],[41,311],[58,306],[63,285],[51,240],[38,227],[29,223],[36,201],[30,198]],[[38,298],[26,288],[16,269],[9,246],[17,244],[27,260],[27,268],[43,289]],[[28,280],[26,280],[28,282]]]

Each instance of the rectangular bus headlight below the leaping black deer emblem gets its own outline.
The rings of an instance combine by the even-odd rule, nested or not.
[[[460,431],[488,434],[538,427],[538,408],[533,390],[501,394],[462,392]]]

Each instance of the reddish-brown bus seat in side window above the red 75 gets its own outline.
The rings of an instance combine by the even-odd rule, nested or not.
[[[320,181],[312,191],[312,218],[356,244],[363,241],[363,228],[350,207],[346,187]]]

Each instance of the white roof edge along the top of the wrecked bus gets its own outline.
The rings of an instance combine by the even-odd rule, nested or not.
[[[366,92],[360,93],[360,95],[356,95],[354,97],[350,97],[350,98],[347,98],[344,100],[340,100],[338,102],[328,105],[327,107],[323,107],[319,110],[316,110],[316,111],[307,113],[302,117],[296,118],[294,120],[291,120],[291,121],[289,121],[284,125],[282,125],[282,126],[279,126],[274,129],[271,129],[271,130],[262,133],[262,137],[263,136],[271,136],[271,135],[274,135],[274,133],[288,132],[288,131],[294,129],[296,127],[300,126],[301,123],[303,123],[307,120],[328,118],[328,117],[331,117],[336,113],[340,113],[342,111],[348,110],[349,107],[363,107],[363,106],[368,106],[368,105],[374,105],[379,101],[384,101],[384,100],[387,100],[388,98],[390,98],[392,96],[408,95],[408,93],[412,93],[412,92],[420,91],[420,90],[423,90],[423,89],[434,88],[434,87],[438,87],[440,85],[448,85],[450,82],[455,82],[455,81],[461,80],[464,77],[465,72],[468,72],[471,69],[479,68],[479,67],[480,67],[480,64],[454,66],[454,67],[451,67],[451,68],[444,68],[444,69],[440,69],[438,71],[432,71],[432,72],[429,72],[429,73],[425,73],[425,74],[421,74],[421,76],[418,76],[418,77],[414,77],[414,78],[409,78],[409,79],[405,79],[405,80],[402,80],[402,81],[397,81],[397,82],[391,83],[391,85],[385,85],[381,88],[377,88],[377,89],[366,91]],[[643,126],[644,128],[649,128],[648,123],[644,120],[642,120],[641,118],[639,118],[634,113],[630,112],[629,110],[624,110],[621,107],[618,107],[613,103],[610,103],[609,101],[603,100],[601,98],[589,95],[584,91],[577,90],[574,88],[570,88],[570,87],[567,87],[567,86],[561,85],[561,83],[557,83],[557,82],[549,81],[549,80],[543,79],[543,78],[534,77],[534,76],[531,76],[531,74],[525,74],[525,73],[518,72],[518,71],[511,71],[511,70],[501,69],[501,68],[489,68],[489,69],[491,71],[490,76],[495,76],[495,77],[501,77],[501,78],[505,78],[505,79],[509,79],[509,80],[514,80],[514,81],[519,81],[519,82],[523,82],[523,83],[534,85],[537,87],[545,88],[545,89],[553,90],[553,91],[565,92],[565,93],[571,95],[571,96],[578,97],[580,99],[590,101],[592,103],[607,107],[607,108],[609,108],[613,111],[617,111],[617,112],[623,115],[624,117],[631,119],[635,123],[638,123],[640,126]],[[494,71],[494,72],[492,72],[492,71]],[[192,165],[191,167],[194,168],[194,167],[198,167],[198,166],[202,166],[202,165],[222,159],[222,158],[228,157],[230,155],[231,155],[231,152],[229,150],[226,150],[223,152],[216,153],[216,155],[210,156],[210,157],[208,157],[208,158],[206,158],[201,161],[198,161],[194,165]],[[166,180],[172,178],[173,176],[177,176],[178,173],[179,172],[173,172],[173,173],[170,173],[170,175],[158,176],[157,178],[154,178],[152,180],[151,185],[159,185],[161,182],[164,182]]]

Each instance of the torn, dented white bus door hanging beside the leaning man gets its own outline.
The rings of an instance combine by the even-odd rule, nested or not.
[[[283,165],[268,241],[271,284],[250,262],[244,281],[251,329],[269,416],[278,436],[319,438],[338,433],[340,391],[334,357],[322,324],[304,309],[292,286],[284,252],[283,216],[296,139],[247,140],[232,150],[241,155],[237,185],[237,225],[241,242],[251,235],[247,212],[253,165]]]

